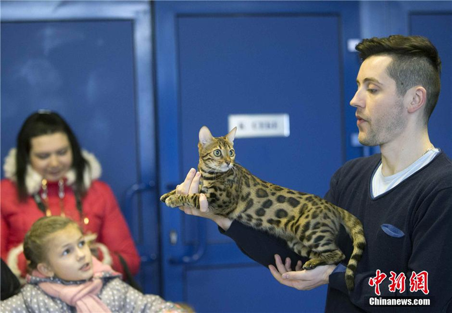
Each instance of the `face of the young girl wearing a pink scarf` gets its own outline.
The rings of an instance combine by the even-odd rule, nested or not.
[[[69,224],[46,239],[47,261],[38,270],[64,280],[86,280],[93,275],[91,251],[74,224]]]

